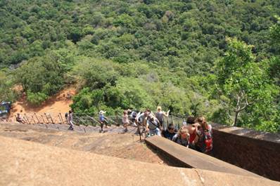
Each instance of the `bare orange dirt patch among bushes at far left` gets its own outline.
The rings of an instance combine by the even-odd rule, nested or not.
[[[72,104],[71,98],[68,98],[68,94],[73,96],[76,94],[75,87],[65,88],[63,91],[58,92],[56,95],[51,96],[46,102],[39,107],[34,107],[27,104],[26,96],[23,95],[17,102],[13,103],[10,119],[14,118],[15,114],[22,111],[22,113],[37,112],[37,113],[65,113],[70,109]]]

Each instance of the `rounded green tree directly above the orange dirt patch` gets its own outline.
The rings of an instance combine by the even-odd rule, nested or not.
[[[39,105],[48,95],[53,95],[63,86],[63,69],[53,53],[31,58],[15,70],[15,83],[23,87],[28,101]]]

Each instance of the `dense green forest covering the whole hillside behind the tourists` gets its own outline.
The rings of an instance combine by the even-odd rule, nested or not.
[[[2,0],[0,100],[75,84],[75,113],[161,105],[280,133],[279,15],[279,0]]]

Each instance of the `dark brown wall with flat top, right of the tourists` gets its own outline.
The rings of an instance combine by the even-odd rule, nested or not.
[[[258,175],[280,181],[280,135],[213,126],[212,155]]]

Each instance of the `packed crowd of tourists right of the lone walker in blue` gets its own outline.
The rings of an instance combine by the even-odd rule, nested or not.
[[[146,109],[145,112],[136,114],[134,121],[140,126],[144,126],[148,136],[163,136],[179,145],[184,145],[199,152],[210,152],[212,150],[212,126],[206,122],[204,117],[189,117],[187,122],[178,130],[174,124],[168,124],[167,128],[164,129],[163,119],[168,115],[169,111],[163,112],[161,107],[157,108],[155,114],[150,109]],[[129,125],[127,110],[123,114],[122,123],[125,131],[127,131]]]

